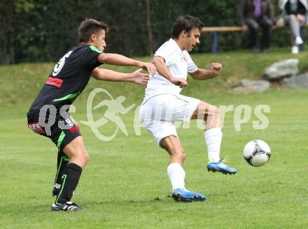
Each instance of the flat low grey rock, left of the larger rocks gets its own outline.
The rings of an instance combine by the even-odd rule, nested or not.
[[[235,91],[267,91],[269,89],[269,82],[267,80],[239,80],[235,84]]]

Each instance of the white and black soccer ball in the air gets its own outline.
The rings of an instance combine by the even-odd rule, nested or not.
[[[244,147],[244,159],[249,165],[259,167],[265,165],[271,156],[271,149],[262,140],[252,140]]]

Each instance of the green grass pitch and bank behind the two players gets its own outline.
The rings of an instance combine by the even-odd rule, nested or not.
[[[236,80],[260,78],[269,64],[293,57],[288,52],[193,55],[200,67],[221,61],[224,71],[208,82],[190,79],[184,95],[215,105],[255,108],[267,104],[271,108],[265,130],[253,129],[253,121],[258,119],[252,116],[237,132],[234,112],[226,114],[221,154],[230,158],[228,165],[237,168],[234,176],[207,172],[203,131],[195,121],[190,129],[179,128],[188,154],[186,186],[207,195],[205,202],[181,203],[169,198],[169,156],[144,128],[141,135],[135,134],[133,109],[120,115],[128,138],[119,132],[112,141],[102,142],[88,126],[80,124],[90,163],[73,200],[86,210],[69,214],[50,212],[57,148],[47,138],[31,133],[26,123],[27,109],[53,64],[1,66],[0,228],[307,228],[307,89],[274,87],[250,94],[230,90]],[[307,53],[297,57],[300,68],[307,69]],[[135,84],[91,80],[75,103],[73,117],[77,121],[87,120],[87,96],[95,87],[107,89],[113,97],[126,96],[126,107],[139,105],[144,90]],[[99,117],[99,111],[95,115]],[[113,124],[100,128],[106,134],[113,130]],[[242,158],[244,145],[253,139],[265,140],[272,149],[269,163],[260,168],[251,167]]]

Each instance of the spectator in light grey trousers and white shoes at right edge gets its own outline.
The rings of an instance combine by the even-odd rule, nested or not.
[[[292,35],[292,53],[298,53],[298,45],[302,45],[300,27],[307,22],[307,0],[279,0],[279,8],[282,10],[283,24],[288,24]],[[281,26],[281,24],[280,24]]]

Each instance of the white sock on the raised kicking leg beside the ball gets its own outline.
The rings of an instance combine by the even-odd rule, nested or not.
[[[219,154],[221,154],[221,139],[223,133],[221,128],[210,128],[204,132],[205,142],[207,143],[207,153],[210,162],[218,162],[221,160]]]

